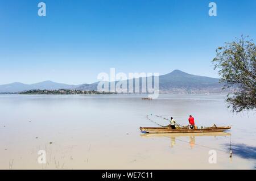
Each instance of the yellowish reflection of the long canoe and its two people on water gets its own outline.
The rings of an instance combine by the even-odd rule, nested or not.
[[[196,144],[197,136],[231,136],[230,133],[226,132],[214,132],[214,133],[143,133],[141,137],[143,138],[155,138],[155,137],[170,137],[171,138],[171,148],[176,145],[176,140],[179,140],[177,137],[189,137],[189,141],[179,140],[188,142],[191,148],[194,148]]]

